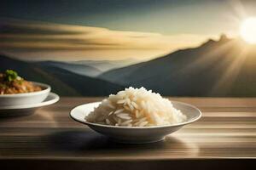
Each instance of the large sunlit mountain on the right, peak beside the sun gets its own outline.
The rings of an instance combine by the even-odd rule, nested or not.
[[[177,50],[99,77],[163,95],[256,96],[256,48],[223,35],[198,48]]]

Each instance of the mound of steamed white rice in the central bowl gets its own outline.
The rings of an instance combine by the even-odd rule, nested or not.
[[[150,127],[184,122],[186,116],[160,94],[145,88],[125,88],[103,99],[85,119],[112,126]]]

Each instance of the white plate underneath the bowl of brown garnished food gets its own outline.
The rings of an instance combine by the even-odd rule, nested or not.
[[[55,104],[60,97],[57,94],[49,93],[43,102],[30,105],[4,105],[0,106],[0,116],[26,115],[45,105]]]

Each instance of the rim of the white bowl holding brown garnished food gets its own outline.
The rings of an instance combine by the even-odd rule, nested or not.
[[[31,82],[31,81],[29,81]],[[5,97],[28,97],[28,96],[34,96],[34,95],[38,95],[38,94],[45,94],[45,93],[49,93],[51,90],[51,87],[48,84],[42,83],[42,82],[32,82],[35,85],[40,86],[41,88],[44,88],[43,90],[37,91],[37,92],[28,92],[28,93],[22,93],[22,94],[1,94],[0,95],[0,99],[1,98],[5,98]]]

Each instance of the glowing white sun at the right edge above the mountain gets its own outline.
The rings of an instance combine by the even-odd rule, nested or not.
[[[240,27],[241,38],[252,44],[256,44],[256,17],[243,20]]]

